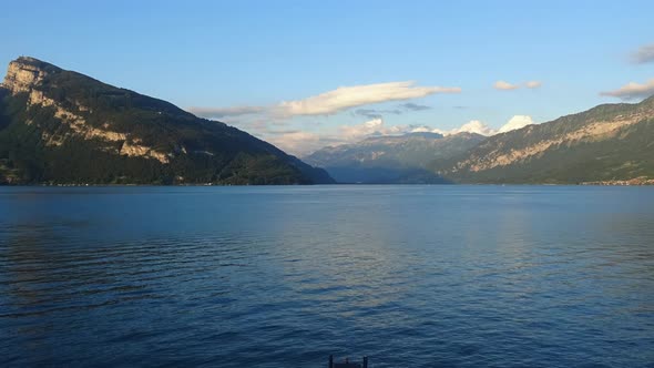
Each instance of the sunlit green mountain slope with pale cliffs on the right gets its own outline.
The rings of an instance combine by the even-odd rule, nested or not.
[[[654,96],[493,135],[432,172],[461,183],[614,182],[654,178]]]

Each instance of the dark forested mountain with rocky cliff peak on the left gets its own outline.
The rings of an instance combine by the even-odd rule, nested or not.
[[[0,85],[0,183],[333,183],[221,122],[33,58]]]

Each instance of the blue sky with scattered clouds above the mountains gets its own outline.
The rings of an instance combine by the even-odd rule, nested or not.
[[[296,154],[471,121],[492,133],[512,119],[541,123],[654,92],[654,1],[60,0],[1,9],[4,64],[31,55]]]

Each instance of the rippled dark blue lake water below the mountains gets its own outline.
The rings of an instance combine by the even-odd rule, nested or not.
[[[654,187],[1,187],[0,366],[653,367]]]

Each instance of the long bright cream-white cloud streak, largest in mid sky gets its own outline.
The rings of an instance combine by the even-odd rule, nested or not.
[[[415,82],[390,82],[340,86],[304,100],[284,101],[277,113],[294,115],[328,115],[338,111],[371,103],[423,98],[435,93],[459,93],[458,86],[416,86]]]

